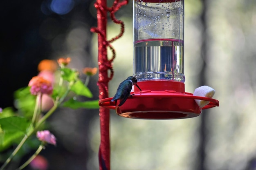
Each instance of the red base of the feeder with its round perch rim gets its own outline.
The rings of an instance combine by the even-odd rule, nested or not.
[[[111,98],[101,99],[99,105],[115,109],[121,117],[135,119],[184,119],[196,117],[202,109],[219,106],[216,99],[193,96],[184,92],[184,83],[172,81],[150,80],[138,82],[133,88],[132,95],[122,106],[117,102],[110,102]],[[195,99],[209,101],[209,104],[200,108]]]

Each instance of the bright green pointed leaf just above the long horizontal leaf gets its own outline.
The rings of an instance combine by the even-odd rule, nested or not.
[[[76,93],[76,95],[81,95],[85,97],[92,98],[92,93],[88,87],[86,87],[81,80],[77,80],[71,87],[71,91]]]

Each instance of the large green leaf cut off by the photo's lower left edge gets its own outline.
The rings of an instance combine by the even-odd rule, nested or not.
[[[24,117],[4,117],[0,119],[0,151],[26,134],[30,121]]]

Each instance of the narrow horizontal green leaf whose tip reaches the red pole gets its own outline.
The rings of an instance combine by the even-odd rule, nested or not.
[[[99,108],[99,100],[79,102],[76,99],[71,98],[67,102],[64,102],[63,106],[69,107],[72,109],[78,109],[78,108],[98,109]]]

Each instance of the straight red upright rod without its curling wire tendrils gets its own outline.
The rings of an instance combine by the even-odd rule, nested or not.
[[[98,65],[99,65],[99,99],[108,97],[108,69],[104,65],[108,61],[106,30],[107,30],[107,1],[97,0],[95,7],[97,8],[98,27]],[[100,106],[100,129],[101,143],[99,146],[99,169],[110,170],[110,138],[109,138],[109,119],[110,111]]]

